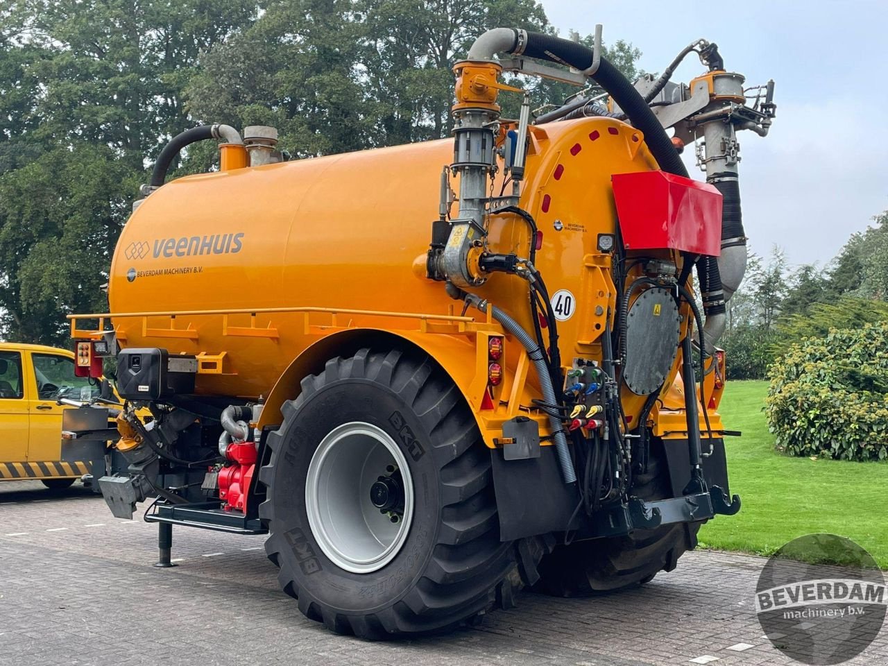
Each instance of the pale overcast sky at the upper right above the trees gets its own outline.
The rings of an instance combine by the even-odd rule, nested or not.
[[[662,71],[703,37],[747,84],[774,79],[771,133],[738,137],[743,223],[758,254],[777,243],[793,264],[823,265],[888,209],[885,0],[542,2],[562,36],[590,34],[601,23],[605,42],[637,46],[647,71]],[[692,53],[672,80],[687,83],[701,72]]]

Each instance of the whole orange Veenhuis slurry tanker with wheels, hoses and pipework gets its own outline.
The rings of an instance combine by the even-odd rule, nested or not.
[[[633,84],[599,44],[480,36],[453,139],[290,162],[273,128],[209,125],[164,148],[109,313],[71,317],[79,371],[114,357],[123,399],[99,487],[122,518],[155,498],[160,566],[174,525],[267,533],[305,615],[388,638],[523,586],[646,583],[739,510],[716,343],[746,261],[736,133],[767,133],[773,83],[701,40]],[[692,51],[706,71],[670,82]],[[503,73],[587,88],[534,117]],[[204,139],[219,170],[164,183]],[[109,437],[80,411],[104,423],[68,437]]]

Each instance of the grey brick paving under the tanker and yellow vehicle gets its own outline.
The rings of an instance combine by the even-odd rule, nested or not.
[[[0,665],[795,663],[763,638],[752,609],[759,558],[694,552],[639,590],[525,594],[475,629],[368,643],[299,614],[262,543],[176,528],[179,566],[156,569],[154,525],[112,518],[79,485],[59,494],[0,483]],[[729,649],[742,643],[751,647]],[[848,663],[888,664],[886,631]]]

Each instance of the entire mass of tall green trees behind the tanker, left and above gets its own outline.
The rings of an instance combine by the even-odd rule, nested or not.
[[[65,345],[65,313],[107,307],[131,197],[173,134],[270,124],[296,156],[444,137],[451,68],[501,25],[551,32],[535,0],[0,4],[0,336]],[[640,53],[609,55],[631,75]],[[215,159],[196,145],[178,172]]]

